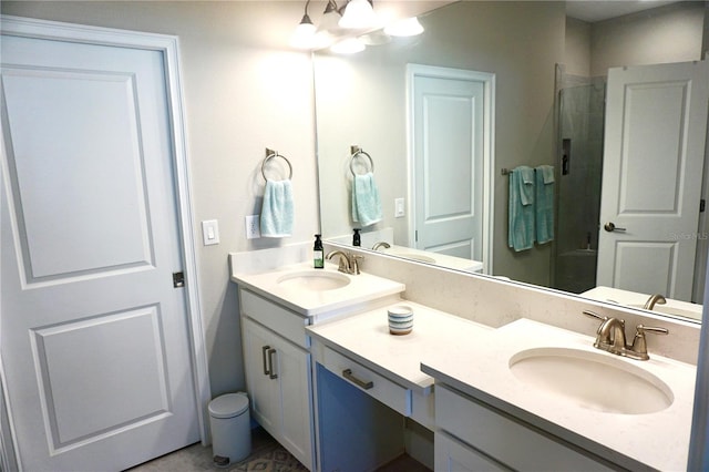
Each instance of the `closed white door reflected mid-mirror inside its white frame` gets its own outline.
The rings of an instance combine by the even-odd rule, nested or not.
[[[414,69],[411,79],[414,246],[483,260],[486,81]]]

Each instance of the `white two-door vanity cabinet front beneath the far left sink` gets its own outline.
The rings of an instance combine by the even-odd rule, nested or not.
[[[312,470],[314,423],[307,318],[239,290],[247,391],[254,419]]]

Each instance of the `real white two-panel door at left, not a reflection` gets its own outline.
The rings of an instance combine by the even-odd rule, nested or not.
[[[164,58],[2,37],[1,347],[24,470],[199,440]]]

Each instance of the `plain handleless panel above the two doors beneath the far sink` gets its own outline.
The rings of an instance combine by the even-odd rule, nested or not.
[[[245,289],[239,290],[239,305],[242,316],[258,321],[296,346],[310,347],[306,336],[307,318]]]

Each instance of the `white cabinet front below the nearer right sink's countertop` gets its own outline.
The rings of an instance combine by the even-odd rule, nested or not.
[[[435,470],[610,471],[613,464],[435,383]]]

